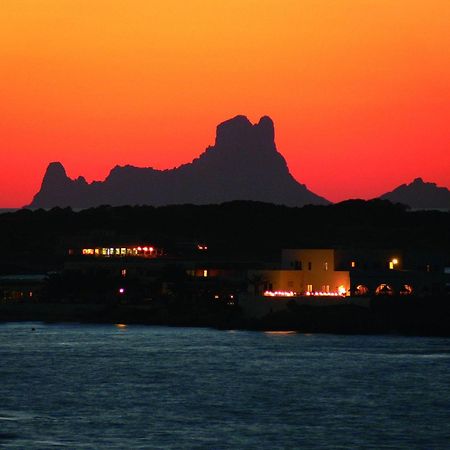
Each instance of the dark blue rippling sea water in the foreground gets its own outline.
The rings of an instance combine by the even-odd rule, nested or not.
[[[448,449],[449,369],[442,338],[2,324],[0,448]]]

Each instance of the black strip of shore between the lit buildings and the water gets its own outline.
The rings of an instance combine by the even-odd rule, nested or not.
[[[342,304],[292,305],[263,317],[245,316],[241,308],[213,305],[189,309],[160,304],[2,303],[0,324],[9,322],[127,324],[208,327],[218,330],[297,331],[326,334],[401,334],[450,337],[450,302],[373,302],[370,308]]]

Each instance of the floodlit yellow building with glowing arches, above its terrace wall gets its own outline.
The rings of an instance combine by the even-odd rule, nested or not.
[[[279,269],[252,271],[250,278],[258,281],[255,295],[364,297],[443,293],[443,275],[435,259],[417,252],[285,249]]]

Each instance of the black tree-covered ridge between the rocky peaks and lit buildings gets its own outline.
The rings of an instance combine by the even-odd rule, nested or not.
[[[205,242],[211,256],[275,261],[282,248],[375,247],[450,252],[450,212],[408,211],[386,200],[290,208],[220,205],[100,206],[0,215],[0,272],[58,267],[69,248],[148,242],[173,254]]]

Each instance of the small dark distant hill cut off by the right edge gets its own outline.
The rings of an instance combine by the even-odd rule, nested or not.
[[[436,183],[424,182],[422,178],[416,178],[410,184],[402,184],[379,198],[393,203],[403,203],[412,209],[450,210],[450,191],[438,187]]]

